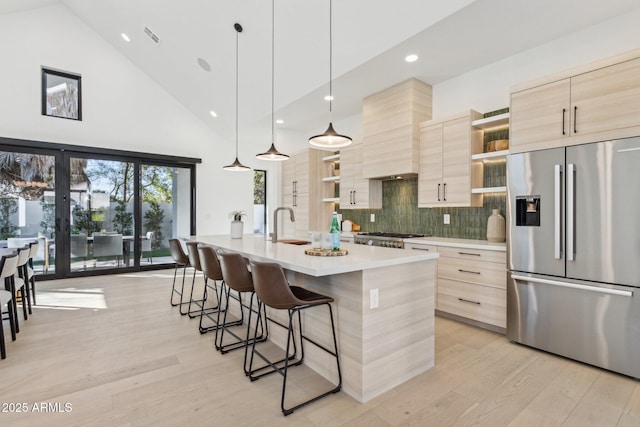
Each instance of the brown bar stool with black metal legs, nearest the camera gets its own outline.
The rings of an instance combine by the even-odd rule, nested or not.
[[[331,303],[333,298],[315,293],[308,289],[301,288],[299,286],[289,286],[287,278],[279,264],[271,262],[257,262],[251,261],[251,271],[253,274],[253,285],[258,295],[258,313],[260,313],[260,307],[262,304],[267,305],[275,310],[287,310],[289,313],[288,334],[287,334],[287,346],[285,349],[284,367],[277,366],[277,362],[271,362],[262,353],[260,353],[255,346],[255,341],[251,349],[251,359],[249,361],[249,377],[253,381],[256,379],[252,376],[253,358],[254,355],[260,357],[263,361],[269,364],[272,368],[272,372],[278,372],[282,375],[282,397],[280,400],[280,408],[282,413],[286,416],[291,414],[296,409],[315,402],[316,400],[328,396],[332,393],[337,393],[342,388],[342,372],[340,370],[340,358],[338,356],[338,343],[336,340],[336,329],[333,322],[333,311],[331,309]],[[322,344],[306,337],[302,329],[302,320],[300,312],[314,307],[326,305],[329,308],[329,319],[331,320],[331,331],[333,333],[333,350],[329,349]],[[298,327],[294,328],[294,316],[297,314]],[[295,329],[298,330],[299,343],[300,343],[300,355],[297,362],[289,363],[291,344],[292,341],[295,344]],[[338,373],[338,384],[324,393],[321,393],[311,399],[308,399],[302,403],[299,403],[290,408],[285,407],[285,394],[287,389],[287,371],[290,366],[299,365],[304,360],[304,341],[308,341],[316,347],[329,353],[336,359],[336,367]]]

